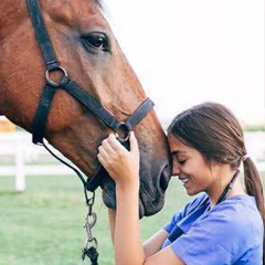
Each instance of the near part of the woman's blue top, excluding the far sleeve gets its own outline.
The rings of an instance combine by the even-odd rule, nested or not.
[[[187,264],[235,264],[244,258],[258,264],[262,257],[263,222],[255,199],[230,198],[197,219],[172,243],[173,251]]]

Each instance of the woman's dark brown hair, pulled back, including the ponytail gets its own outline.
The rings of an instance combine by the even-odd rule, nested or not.
[[[265,224],[262,180],[252,159],[246,157],[243,130],[230,109],[216,103],[197,105],[179,114],[168,132],[195,148],[208,161],[229,163],[233,169],[243,161],[246,192],[255,197]]]

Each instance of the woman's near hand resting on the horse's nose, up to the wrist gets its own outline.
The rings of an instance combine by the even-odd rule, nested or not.
[[[132,131],[129,141],[130,151],[116,139],[114,134],[110,134],[107,139],[103,140],[97,155],[99,162],[116,184],[123,187],[131,186],[131,183],[139,186],[139,148]]]

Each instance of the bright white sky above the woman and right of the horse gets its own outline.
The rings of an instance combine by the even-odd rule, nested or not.
[[[161,119],[203,102],[265,123],[264,0],[104,0]]]

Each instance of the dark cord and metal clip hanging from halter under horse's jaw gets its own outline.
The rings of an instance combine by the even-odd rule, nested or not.
[[[84,186],[84,193],[85,193],[85,202],[88,209],[85,223],[84,223],[84,229],[86,230],[86,241],[85,241],[85,246],[82,250],[82,259],[83,262],[85,261],[85,257],[87,256],[91,259],[91,265],[98,265],[97,258],[98,258],[98,252],[97,252],[97,240],[92,235],[92,229],[96,224],[97,221],[97,215],[95,212],[93,212],[93,205],[95,202],[95,191],[92,192],[92,197],[89,198],[87,194],[86,190],[86,181],[82,177],[81,172],[71,166],[68,162],[64,161],[62,158],[57,157],[44,142],[42,144],[44,148],[59,161],[74,170],[74,172],[77,174],[77,177],[81,179],[83,186]]]

